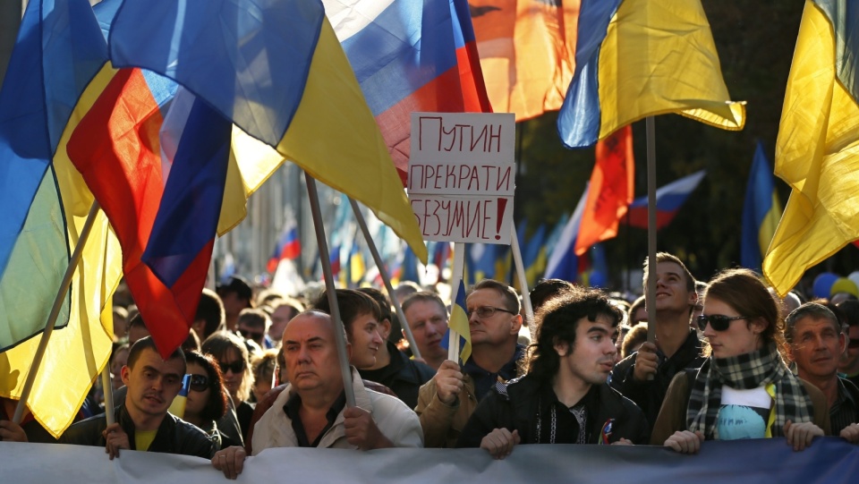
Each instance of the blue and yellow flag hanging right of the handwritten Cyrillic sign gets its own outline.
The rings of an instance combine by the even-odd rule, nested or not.
[[[676,113],[742,130],[700,0],[583,0],[575,73],[557,118],[567,148],[646,116]]]

